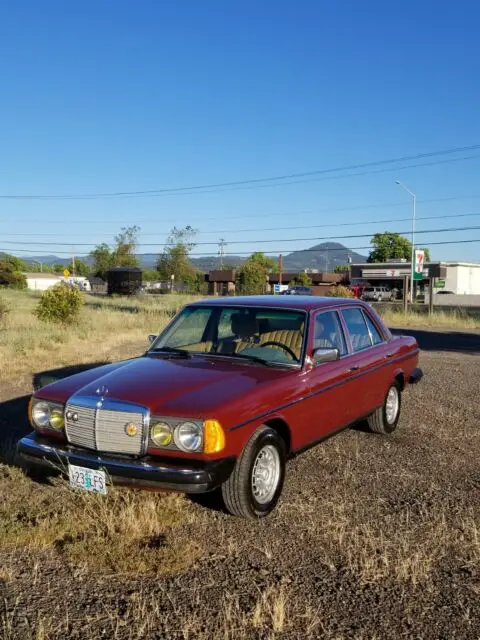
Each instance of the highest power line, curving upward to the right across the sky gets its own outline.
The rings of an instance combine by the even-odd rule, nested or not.
[[[475,151],[480,149],[480,144],[469,145],[466,147],[454,147],[450,149],[442,149],[440,151],[431,151],[428,153],[419,153],[410,156],[400,156],[398,158],[388,158],[384,160],[376,160],[373,162],[364,162],[358,164],[344,165],[340,167],[331,167],[328,169],[317,169],[315,171],[304,171],[301,173],[289,173],[278,176],[269,176],[266,178],[249,178],[246,180],[234,180],[230,182],[216,182],[216,183],[207,183],[207,184],[199,184],[192,185],[187,187],[168,187],[168,188],[160,188],[160,189],[143,189],[136,191],[113,191],[113,192],[104,192],[104,193],[84,193],[84,194],[36,194],[36,195],[25,195],[25,194],[2,194],[0,195],[1,199],[9,199],[9,200],[83,200],[83,199],[100,199],[100,198],[119,198],[119,197],[141,197],[141,196],[158,196],[158,195],[172,195],[179,193],[189,193],[189,192],[204,192],[204,190],[208,189],[222,189],[228,187],[251,187],[254,185],[266,185],[268,183],[280,183],[286,184],[286,180],[298,180],[299,178],[307,178],[313,176],[325,176],[327,174],[335,174],[342,173],[345,171],[354,171],[358,169],[369,169],[372,167],[387,165],[387,164],[398,164],[400,162],[410,162],[412,160],[421,160],[425,158],[432,158],[442,155],[451,155],[460,152],[467,151]],[[468,156],[461,158],[463,160],[476,158],[478,156]],[[457,161],[454,159],[453,161]],[[439,161],[441,163],[443,161]],[[409,165],[406,167],[395,167],[395,170],[402,168],[413,168],[415,165]],[[422,164],[418,166],[429,166],[428,164]],[[372,173],[376,173],[375,171]],[[363,174],[347,174],[343,177],[351,177],[354,175],[365,175]],[[277,185],[279,186],[279,185]]]

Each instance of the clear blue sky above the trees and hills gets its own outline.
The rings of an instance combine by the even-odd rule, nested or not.
[[[0,195],[184,187],[480,144],[479,23],[476,0],[2,3]],[[407,231],[393,221],[411,214],[395,178],[417,193],[419,217],[478,212],[419,220],[419,231],[480,227],[480,150],[435,160],[467,156],[205,193],[0,199],[0,249],[81,255],[135,223],[144,252],[160,251],[146,243],[163,243],[174,224],[212,243],[196,253],[216,253],[220,237],[230,253],[285,252]],[[307,229],[261,231],[293,225]],[[469,238],[480,229],[418,241]],[[431,253],[478,261],[480,242]]]

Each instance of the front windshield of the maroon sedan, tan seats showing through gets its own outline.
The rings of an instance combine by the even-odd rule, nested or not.
[[[298,365],[305,313],[234,306],[185,307],[149,353],[206,353],[266,364]]]

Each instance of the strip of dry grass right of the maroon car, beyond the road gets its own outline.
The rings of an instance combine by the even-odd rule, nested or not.
[[[451,311],[428,313],[402,310],[378,309],[384,321],[390,327],[442,327],[446,329],[480,329],[480,317],[467,311],[452,308]]]

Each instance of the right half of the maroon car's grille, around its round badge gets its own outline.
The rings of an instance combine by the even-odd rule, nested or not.
[[[127,424],[137,427],[135,435],[127,434]],[[99,451],[138,455],[142,451],[143,443],[143,414],[99,409],[96,433]]]

